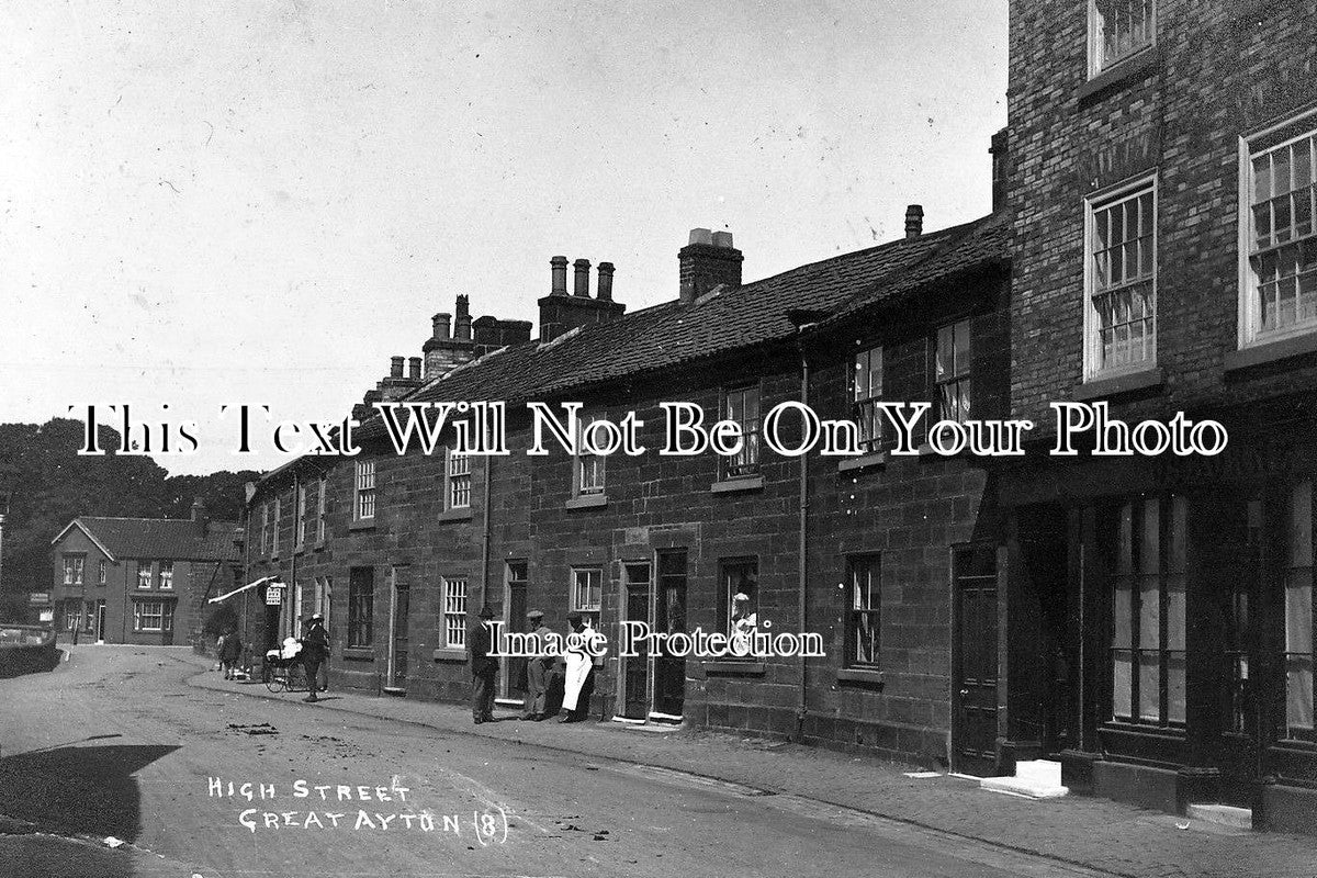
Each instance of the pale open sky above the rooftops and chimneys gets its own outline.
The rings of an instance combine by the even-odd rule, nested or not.
[[[221,405],[338,420],[552,255],[635,311],[693,228],[755,280],[986,213],[1006,4],[0,0],[0,423],[126,403],[196,423],[173,474],[267,469]]]

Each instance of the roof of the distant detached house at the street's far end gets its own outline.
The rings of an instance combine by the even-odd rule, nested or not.
[[[211,521],[205,536],[191,519],[107,519],[79,516],[68,528],[80,527],[115,558],[166,558],[171,561],[238,561],[234,540],[242,538],[236,521]]]

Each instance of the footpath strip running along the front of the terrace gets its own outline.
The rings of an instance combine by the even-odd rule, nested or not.
[[[202,657],[196,661],[205,663]],[[194,677],[190,684],[263,692],[263,687],[228,683],[217,673]],[[976,840],[1113,875],[1317,875],[1317,837],[1230,831],[1090,796],[1043,802],[985,792],[977,781],[950,774],[906,777],[907,771],[921,770],[914,765],[698,729],[655,732],[624,723],[527,723],[516,719],[519,711],[499,711],[499,723],[474,725],[464,706],[352,692],[332,695],[333,700],[323,702],[321,710],[653,766],[769,794],[792,794],[931,829],[948,839]]]

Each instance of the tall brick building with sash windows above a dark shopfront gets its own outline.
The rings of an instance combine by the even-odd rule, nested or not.
[[[1317,4],[1010,13],[1010,396],[1044,436],[994,469],[1002,750],[1310,828]],[[1056,400],[1216,419],[1230,445],[1048,457]]]

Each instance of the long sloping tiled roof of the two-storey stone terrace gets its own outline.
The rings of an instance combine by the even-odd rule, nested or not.
[[[1006,258],[1005,213],[847,253],[690,304],[668,301],[549,344],[506,348],[458,366],[411,394],[410,401],[547,399],[568,390],[693,367],[797,334],[790,311],[824,312],[820,328]],[[358,430],[378,437],[371,417]]]

